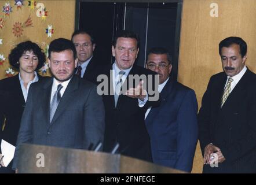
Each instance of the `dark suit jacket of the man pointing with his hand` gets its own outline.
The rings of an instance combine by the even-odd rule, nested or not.
[[[107,75],[108,85],[112,86],[112,82],[110,82],[112,64],[101,67],[100,69],[103,69],[101,74]],[[156,73],[134,65],[129,75],[135,74],[153,75]],[[127,80],[128,77],[126,81]],[[127,84],[128,83],[129,82],[127,82]],[[157,106],[160,101],[148,101],[142,108],[138,106],[138,99],[130,98],[126,95],[119,95],[116,108],[114,95],[103,95],[103,101],[105,105],[106,124],[104,151],[111,151],[115,143],[118,142],[120,145],[120,154],[152,161],[150,139],[147,128],[145,127],[144,115],[149,106]]]

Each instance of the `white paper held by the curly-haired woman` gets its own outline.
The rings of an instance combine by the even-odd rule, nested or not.
[[[5,166],[8,166],[10,161],[12,161],[13,159],[15,146],[11,145],[10,143],[2,139],[1,150],[2,150],[2,156],[4,156],[3,164]]]

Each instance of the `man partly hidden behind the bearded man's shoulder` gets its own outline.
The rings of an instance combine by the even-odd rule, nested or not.
[[[72,34],[71,40],[75,45],[78,57],[78,67],[75,69],[76,75],[86,80],[94,79],[96,77],[94,71],[99,65],[99,61],[96,56],[93,56],[96,43],[92,33],[76,30]]]

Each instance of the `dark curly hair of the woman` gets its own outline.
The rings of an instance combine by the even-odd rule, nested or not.
[[[12,65],[16,69],[19,69],[20,57],[23,56],[23,54],[27,51],[32,51],[32,53],[35,54],[36,57],[38,57],[38,65],[36,66],[35,71],[42,68],[43,63],[45,62],[45,53],[43,53],[42,49],[38,45],[36,45],[36,43],[29,40],[19,43],[10,51],[10,54],[8,56],[10,65]]]

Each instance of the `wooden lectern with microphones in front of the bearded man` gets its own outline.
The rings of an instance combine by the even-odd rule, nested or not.
[[[88,150],[23,144],[19,173],[184,173],[136,158]]]

